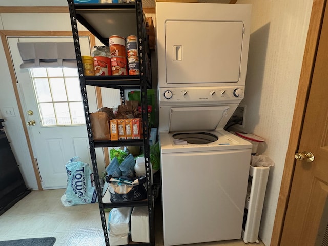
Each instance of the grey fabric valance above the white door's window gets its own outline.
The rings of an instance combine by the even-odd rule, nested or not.
[[[77,68],[73,42],[17,43],[23,63],[22,69],[30,68]]]

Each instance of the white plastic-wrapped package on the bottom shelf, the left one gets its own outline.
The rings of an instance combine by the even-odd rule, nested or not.
[[[113,208],[108,217],[108,230],[112,235],[129,234],[132,207]]]

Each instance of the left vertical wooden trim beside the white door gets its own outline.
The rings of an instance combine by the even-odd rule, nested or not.
[[[35,173],[37,188],[39,190],[42,190],[41,176],[40,176],[40,173],[39,173],[39,168],[38,168],[38,165],[37,165],[37,161],[36,161],[36,159],[34,158],[34,155],[33,155],[32,145],[31,145],[31,142],[30,142],[30,138],[29,138],[29,134],[28,134],[28,131],[27,131],[25,118],[24,118],[24,114],[23,114],[23,107],[22,107],[22,104],[20,103],[20,100],[19,100],[19,93],[18,93],[18,89],[17,89],[17,79],[16,79],[16,74],[15,74],[15,69],[14,69],[14,66],[13,66],[12,60],[11,60],[11,54],[10,54],[10,51],[9,51],[7,37],[2,32],[0,32],[0,36],[1,36],[2,45],[4,47],[8,67],[9,67],[9,73],[10,73],[12,85],[13,85],[13,88],[14,88],[14,93],[15,93],[16,100],[17,100],[20,119],[22,119],[23,130],[24,130],[26,141],[27,141],[27,146],[28,146],[28,149],[29,149],[29,152],[30,152],[30,158],[31,158],[32,165],[33,165],[33,170],[34,170],[34,173]]]

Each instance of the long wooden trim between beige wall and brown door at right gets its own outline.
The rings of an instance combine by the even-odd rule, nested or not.
[[[288,207],[289,195],[293,181],[295,158],[298,151],[306,104],[310,92],[311,79],[318,49],[318,40],[321,31],[322,18],[326,0],[314,0],[310,17],[308,37],[306,38],[303,63],[296,96],[296,104],[292,122],[292,129],[286,153],[285,165],[271,236],[271,246],[280,245],[284,219]]]

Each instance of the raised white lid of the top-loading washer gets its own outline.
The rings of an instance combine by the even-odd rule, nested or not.
[[[169,132],[213,131],[227,124],[229,106],[171,108]]]

